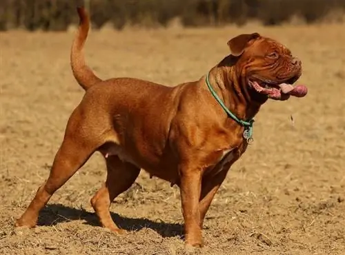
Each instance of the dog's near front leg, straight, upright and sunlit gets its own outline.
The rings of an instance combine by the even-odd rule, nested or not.
[[[200,228],[199,198],[201,192],[201,169],[191,165],[180,167],[181,203],[184,216],[186,245],[204,245]]]

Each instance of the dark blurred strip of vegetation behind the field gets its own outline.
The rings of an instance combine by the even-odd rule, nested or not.
[[[77,22],[76,1],[1,0],[0,30],[68,29]],[[344,21],[344,0],[86,0],[92,26],[222,26],[259,21],[264,25]]]

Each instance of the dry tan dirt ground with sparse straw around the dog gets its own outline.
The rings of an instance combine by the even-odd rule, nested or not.
[[[344,25],[101,30],[91,32],[86,56],[103,78],[176,85],[206,74],[228,54],[230,37],[254,31],[286,43],[302,59],[300,83],[309,94],[269,101],[259,112],[255,143],[215,197],[206,247],[196,253],[345,254]],[[184,254],[179,191],[145,172],[111,207],[130,233],[99,227],[89,203],[105,179],[99,154],[52,197],[38,227],[14,229],[48,176],[83,96],[69,66],[72,37],[0,34],[0,254]]]

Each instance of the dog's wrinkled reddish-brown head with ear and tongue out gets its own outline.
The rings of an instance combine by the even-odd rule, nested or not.
[[[302,74],[301,61],[281,43],[254,33],[241,34],[228,45],[238,57],[237,72],[246,77],[251,90],[275,100],[307,94],[304,85],[293,85]]]

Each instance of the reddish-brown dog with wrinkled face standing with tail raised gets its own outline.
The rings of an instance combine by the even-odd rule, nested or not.
[[[131,78],[102,81],[84,61],[90,21],[83,8],[78,13],[71,65],[86,94],[68,120],[48,180],[16,225],[36,225],[52,194],[99,151],[108,176],[91,203],[104,227],[122,232],[109,206],[142,168],[179,186],[186,243],[201,246],[213,196],[251,141],[250,120],[268,98],[306,94],[306,87],[291,85],[301,75],[301,61],[277,41],[241,34],[228,42],[231,54],[199,81],[175,88]]]

